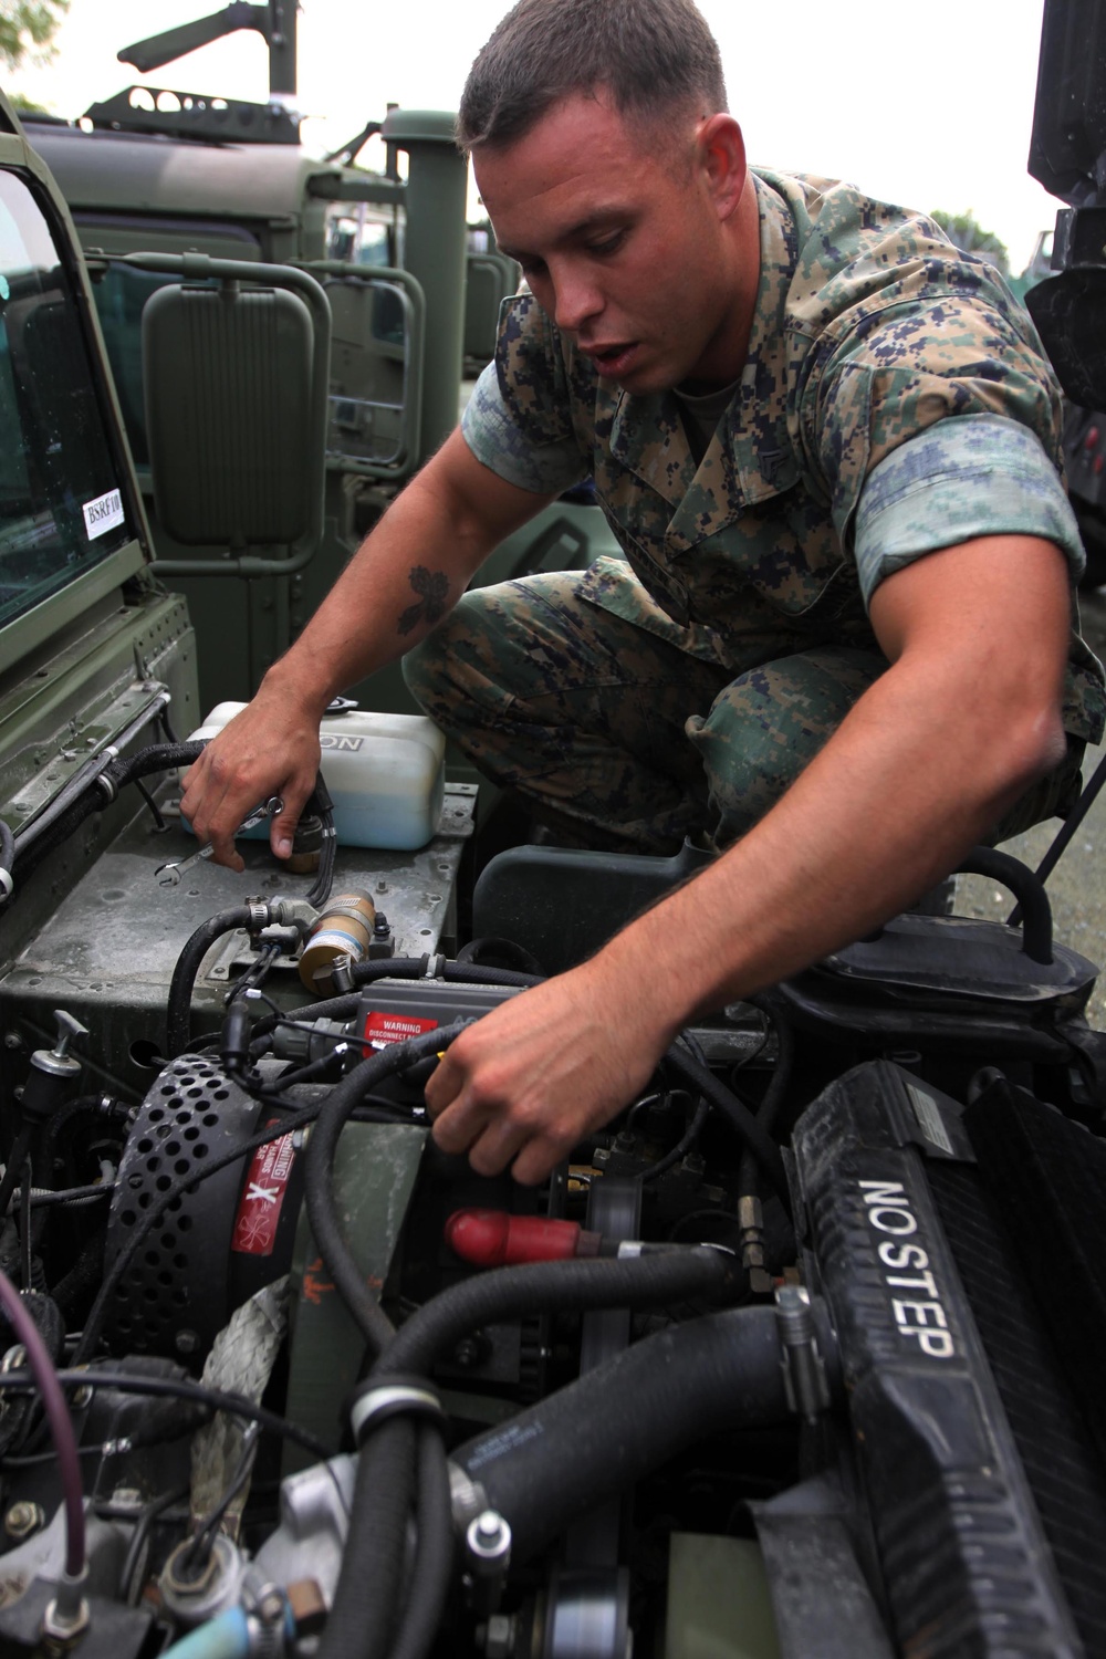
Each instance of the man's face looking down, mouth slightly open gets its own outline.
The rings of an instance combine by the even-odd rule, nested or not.
[[[517,143],[474,156],[506,254],[542,310],[627,392],[740,373],[733,241],[710,169],[627,124],[605,93],[557,105]]]

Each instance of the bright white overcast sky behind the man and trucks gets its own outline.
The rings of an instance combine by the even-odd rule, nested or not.
[[[754,163],[849,179],[924,211],[970,209],[1003,239],[1015,272],[1060,206],[1026,173],[1041,7],[700,0]],[[149,76],[116,61],[121,46],[216,10],[219,0],[71,0],[53,61],[8,71],[5,90],[65,116],[131,83],[264,101],[267,50],[254,33]],[[388,103],[456,109],[507,10],[509,0],[302,0],[307,148],[337,149]]]

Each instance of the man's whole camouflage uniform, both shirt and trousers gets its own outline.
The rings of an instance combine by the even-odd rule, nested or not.
[[[867,602],[910,559],[1010,531],[1081,569],[1060,393],[993,270],[851,186],[754,182],[748,360],[698,468],[678,398],[600,380],[526,294],[466,410],[469,448],[511,483],[592,478],[625,554],[469,592],[406,664],[434,720],[565,839],[745,833],[887,667]],[[995,838],[1066,810],[1104,710],[1073,599],[1068,761]]]

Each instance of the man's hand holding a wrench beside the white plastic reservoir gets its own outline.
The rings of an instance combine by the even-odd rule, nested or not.
[[[318,720],[262,685],[191,766],[181,816],[201,841],[211,841],[217,864],[244,869],[234,831],[260,801],[279,795],[284,811],[272,820],[269,841],[277,858],[287,858],[315,788],[318,755]]]

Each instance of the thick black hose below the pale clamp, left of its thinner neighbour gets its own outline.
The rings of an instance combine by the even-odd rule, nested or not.
[[[318,1659],[380,1659],[396,1626],[415,1491],[415,1423],[396,1417],[357,1460],[350,1531]],[[413,1586],[420,1594],[420,1586]]]

